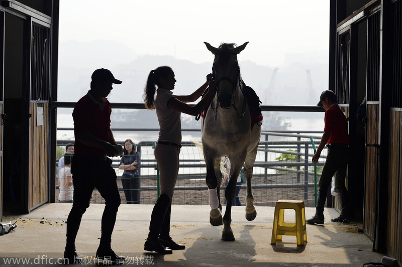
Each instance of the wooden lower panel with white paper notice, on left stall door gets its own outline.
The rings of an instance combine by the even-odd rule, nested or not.
[[[39,115],[38,107],[43,107]],[[48,200],[48,103],[31,103],[31,144],[29,169],[29,209]],[[42,119],[42,121],[40,121]],[[38,125],[38,121],[40,122]]]

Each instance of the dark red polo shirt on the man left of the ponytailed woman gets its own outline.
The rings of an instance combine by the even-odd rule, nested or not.
[[[104,108],[103,112],[101,112],[99,103],[95,101],[86,94],[75,104],[72,112],[74,119],[75,154],[87,156],[106,155],[103,149],[88,147],[77,139],[79,133],[88,131],[95,138],[109,142],[110,114],[112,113],[112,108],[108,99],[104,98]]]

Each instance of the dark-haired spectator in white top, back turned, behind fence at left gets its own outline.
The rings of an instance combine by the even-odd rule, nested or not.
[[[60,170],[59,177],[59,203],[72,203],[74,187],[71,177],[71,160],[73,154],[64,154],[64,167]]]

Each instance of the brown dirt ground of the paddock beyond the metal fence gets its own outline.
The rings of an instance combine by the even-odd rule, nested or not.
[[[309,179],[313,179],[310,177]],[[299,188],[258,188],[264,185],[291,185],[304,183],[303,177],[297,183],[295,174],[277,174],[268,176],[265,181],[262,176],[255,176],[252,178],[252,193],[254,196],[254,203],[256,206],[275,206],[275,201],[279,199],[304,199],[306,207],[314,207],[314,188],[309,188],[308,199],[305,199],[305,192],[303,187]],[[157,182],[155,179],[141,178],[141,187],[156,187]],[[118,186],[122,189],[121,180],[118,178]],[[181,188],[188,187],[203,187],[203,189],[195,190],[182,190]],[[245,184],[242,185],[239,193],[240,202],[245,205],[246,188]],[[224,191],[221,187],[221,202],[224,205]],[[56,203],[58,203],[58,190],[56,190]],[[126,197],[123,190],[120,190],[120,197],[122,204],[126,204]],[[142,190],[141,191],[141,204],[154,204],[157,199],[156,190]],[[105,200],[100,196],[99,192],[95,189],[92,193],[91,203],[105,203]],[[209,194],[206,186],[205,179],[188,179],[179,177],[176,182],[176,189],[173,196],[173,204],[179,205],[208,205]]]

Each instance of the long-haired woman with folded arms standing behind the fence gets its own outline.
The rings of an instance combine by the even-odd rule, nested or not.
[[[141,164],[140,153],[131,139],[124,141],[123,157],[119,169],[124,170],[122,185],[127,204],[140,204],[141,180],[138,165]]]

